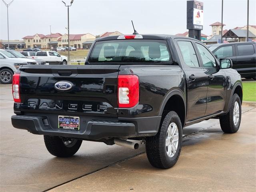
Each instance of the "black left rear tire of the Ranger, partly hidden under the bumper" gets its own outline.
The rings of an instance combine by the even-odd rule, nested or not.
[[[71,138],[65,139],[72,140]],[[44,144],[50,154],[57,157],[70,157],[79,150],[82,140],[73,139],[73,143],[65,145],[64,138],[44,135]]]

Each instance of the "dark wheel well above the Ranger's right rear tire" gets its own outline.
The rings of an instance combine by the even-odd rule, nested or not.
[[[179,95],[173,95],[169,98],[168,102],[164,106],[164,111],[175,111],[180,117],[182,126],[185,124],[185,105],[184,101]]]

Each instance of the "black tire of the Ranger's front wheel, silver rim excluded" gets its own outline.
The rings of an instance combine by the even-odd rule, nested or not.
[[[235,103],[238,103],[239,106],[239,118],[237,124],[235,124],[233,119],[234,114],[234,106]],[[231,98],[230,108],[227,114],[220,116],[220,127],[223,132],[225,133],[235,133],[238,131],[241,123],[241,114],[242,114],[242,108],[241,108],[241,101],[238,94],[234,94]]]

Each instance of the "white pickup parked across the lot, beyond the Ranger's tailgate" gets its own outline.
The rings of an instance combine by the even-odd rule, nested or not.
[[[56,51],[38,51],[36,52],[35,58],[45,60],[46,65],[68,64],[68,58],[66,56],[58,54],[58,52]]]

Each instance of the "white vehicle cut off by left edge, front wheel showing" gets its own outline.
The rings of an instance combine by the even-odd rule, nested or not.
[[[12,83],[12,76],[20,65],[36,64],[35,60],[28,58],[16,58],[6,50],[0,49],[0,83]]]

